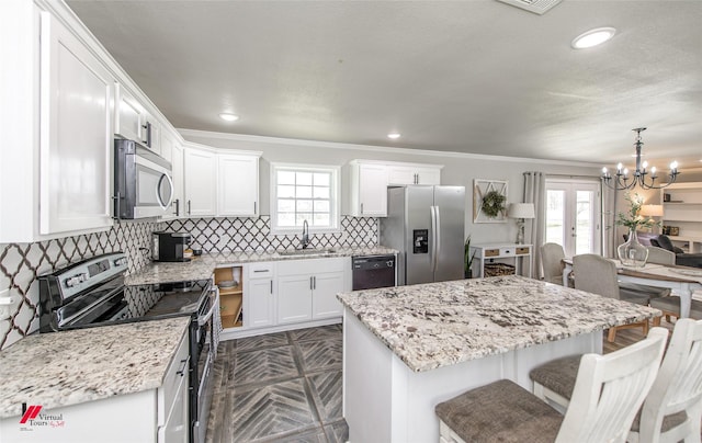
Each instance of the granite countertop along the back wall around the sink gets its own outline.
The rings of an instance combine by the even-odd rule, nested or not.
[[[377,247],[364,248],[330,248],[333,252],[305,253],[298,255],[284,255],[284,251],[253,251],[253,252],[222,252],[202,254],[189,262],[151,262],[139,272],[127,275],[125,284],[140,285],[166,282],[181,282],[186,280],[210,279],[215,268],[229,264],[254,263],[262,261],[280,260],[306,260],[306,259],[328,259],[333,257],[354,257],[373,254],[393,254],[397,250]]]

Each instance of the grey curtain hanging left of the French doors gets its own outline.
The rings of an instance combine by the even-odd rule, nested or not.
[[[546,175],[543,172],[524,172],[523,202],[534,204],[535,218],[525,220],[524,241],[532,245],[532,276],[541,279],[541,246],[546,231]]]

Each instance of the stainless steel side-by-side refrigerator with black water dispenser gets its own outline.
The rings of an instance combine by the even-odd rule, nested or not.
[[[463,279],[465,188],[388,188],[381,245],[399,250],[397,284]]]

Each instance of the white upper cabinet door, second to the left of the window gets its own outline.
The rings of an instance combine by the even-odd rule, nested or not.
[[[185,148],[185,217],[213,217],[217,213],[217,155]]]

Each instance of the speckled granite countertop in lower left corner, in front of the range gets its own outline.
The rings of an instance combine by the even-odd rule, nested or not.
[[[0,418],[161,386],[190,317],[26,337],[0,352]]]

